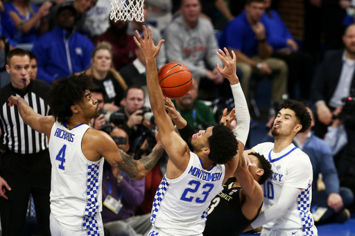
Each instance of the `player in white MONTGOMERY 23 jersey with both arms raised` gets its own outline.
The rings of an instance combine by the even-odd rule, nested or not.
[[[135,42],[146,57],[150,105],[160,140],[169,156],[166,175],[153,201],[150,217],[153,228],[149,235],[202,235],[209,202],[236,170],[248,137],[250,116],[236,76],[236,56],[233,53],[231,57],[226,48],[225,52],[219,50],[217,53],[225,64],[223,69],[218,65],[218,71],[230,81],[236,100],[236,137],[230,128],[218,124],[193,134],[193,152],[189,152],[187,143],[175,133],[173,122],[166,114],[162,89],[159,87],[155,59],[164,40],[155,46],[151,30],[149,28],[148,37],[146,27],[144,39],[137,31],[136,35]],[[230,118],[234,118],[234,115],[230,114]]]

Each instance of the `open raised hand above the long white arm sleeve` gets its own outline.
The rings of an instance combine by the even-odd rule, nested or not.
[[[225,67],[222,67],[217,64],[218,72],[223,76],[223,78],[227,78],[230,81],[230,84],[237,84],[239,82],[238,76],[236,76],[236,55],[234,51],[232,51],[233,57],[231,57],[230,52],[227,48],[224,48],[224,51],[218,49],[217,52],[218,57],[222,60]]]

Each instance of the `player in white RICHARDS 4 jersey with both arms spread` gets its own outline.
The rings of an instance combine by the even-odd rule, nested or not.
[[[26,125],[49,138],[51,156],[51,234],[101,235],[101,183],[104,157],[132,179],[143,179],[164,149],[159,140],[149,156],[135,161],[116,146],[103,131],[89,127],[98,116],[98,102],[92,98],[92,78],[71,75],[58,80],[50,91],[53,116],[36,114],[27,102],[10,96]]]

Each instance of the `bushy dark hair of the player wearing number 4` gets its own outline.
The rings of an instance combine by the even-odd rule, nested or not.
[[[74,73],[68,77],[56,81],[49,91],[49,107],[51,114],[58,122],[67,122],[68,118],[73,116],[70,107],[80,103],[85,91],[94,87],[92,77],[81,73]]]

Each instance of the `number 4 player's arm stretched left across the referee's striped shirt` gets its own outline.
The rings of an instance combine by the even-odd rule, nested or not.
[[[8,98],[8,105],[10,107],[17,105],[19,115],[22,120],[24,120],[24,123],[29,125],[32,129],[35,129],[35,131],[46,134],[49,138],[51,128],[55,122],[53,116],[42,116],[35,113],[32,107],[28,106],[28,103],[24,100],[24,98],[17,96],[10,96],[10,98]]]

